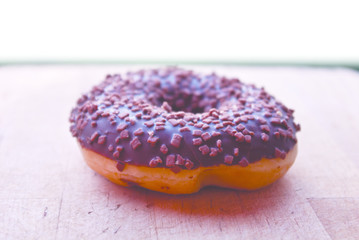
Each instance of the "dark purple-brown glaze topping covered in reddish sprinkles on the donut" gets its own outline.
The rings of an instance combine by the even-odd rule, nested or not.
[[[293,112],[236,78],[166,68],[107,76],[78,100],[70,130],[121,169],[245,167],[285,158],[300,129]]]

